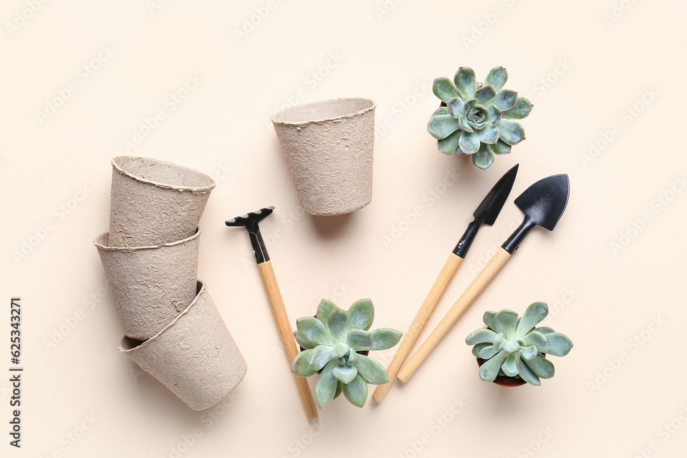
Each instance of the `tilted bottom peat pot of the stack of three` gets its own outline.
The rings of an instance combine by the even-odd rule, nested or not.
[[[201,281],[196,299],[177,319],[145,342],[125,336],[120,352],[194,410],[220,402],[243,380],[247,369]]]

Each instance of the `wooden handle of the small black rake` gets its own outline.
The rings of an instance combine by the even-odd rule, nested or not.
[[[286,309],[284,308],[282,293],[279,292],[277,279],[274,277],[274,271],[272,270],[272,263],[270,261],[261,262],[258,264],[258,270],[260,271],[260,277],[262,277],[264,289],[267,291],[267,297],[269,297],[269,304],[272,306],[274,321],[277,323],[279,336],[282,339],[282,345],[284,346],[284,352],[286,352],[286,359],[289,360],[290,368],[293,358],[295,358],[298,354],[298,349],[296,348],[296,343],[293,339],[293,332],[291,331],[289,317],[286,316]],[[308,387],[308,380],[298,376],[293,376],[293,380],[296,382],[296,387],[303,404],[305,416],[308,418],[308,420],[316,420],[317,407],[315,407],[313,395],[310,392],[310,387]]]

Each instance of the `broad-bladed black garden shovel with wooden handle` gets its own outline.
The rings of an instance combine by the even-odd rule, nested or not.
[[[482,293],[486,285],[491,282],[495,275],[510,259],[510,256],[518,249],[522,240],[527,236],[534,226],[541,226],[552,231],[556,223],[561,219],[563,211],[570,196],[570,179],[566,174],[548,176],[528,187],[525,192],[515,199],[515,205],[525,218],[522,224],[515,229],[508,240],[502,244],[501,248],[484,266],[482,271],[475,277],[465,292],[455,301],[451,310],[440,321],[437,327],[429,335],[425,343],[408,360],[408,363],[398,373],[398,380],[405,383],[415,373],[423,363],[429,352],[436,347],[436,344],[451,329],[451,326],[458,321],[460,315],[472,304],[475,297]]]

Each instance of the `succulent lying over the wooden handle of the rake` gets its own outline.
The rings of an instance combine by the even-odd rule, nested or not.
[[[348,312],[322,299],[317,317],[296,321],[296,341],[303,347],[291,363],[291,372],[309,377],[322,371],[315,385],[315,401],[322,409],[343,392],[351,404],[363,407],[368,399],[368,383],[389,382],[384,367],[360,352],[386,350],[403,335],[389,328],[368,331],[374,319],[370,299],[355,302]]]

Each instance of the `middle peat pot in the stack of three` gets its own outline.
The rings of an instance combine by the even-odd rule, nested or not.
[[[153,337],[196,297],[200,235],[150,247],[113,247],[107,232],[93,240],[125,336]]]

